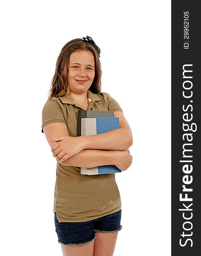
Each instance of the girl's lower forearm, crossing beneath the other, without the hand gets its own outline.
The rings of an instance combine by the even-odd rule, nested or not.
[[[65,160],[62,164],[66,166],[78,166],[92,168],[103,165],[115,165],[115,151],[103,151],[84,149],[80,153]]]

